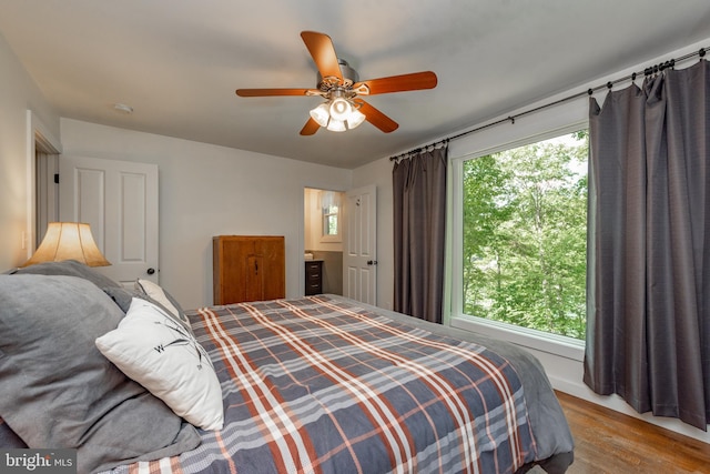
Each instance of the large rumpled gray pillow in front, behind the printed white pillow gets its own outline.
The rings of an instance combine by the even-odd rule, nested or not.
[[[97,349],[123,313],[74,276],[0,275],[0,416],[30,447],[77,448],[78,471],[176,455],[196,430]]]

